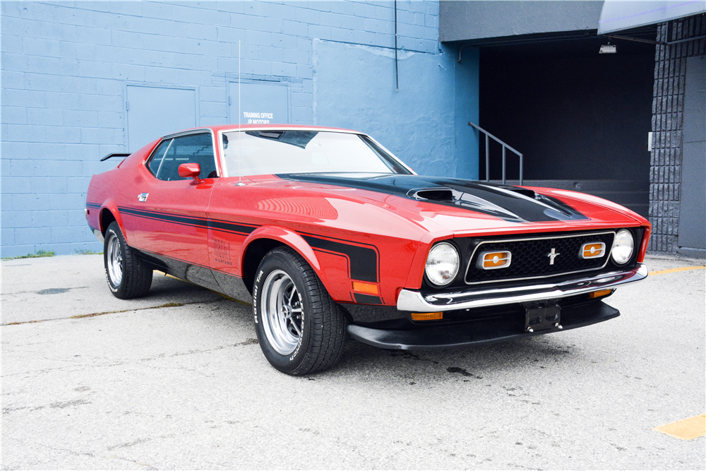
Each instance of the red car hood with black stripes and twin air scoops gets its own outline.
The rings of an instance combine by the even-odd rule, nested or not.
[[[276,177],[318,189],[333,186],[366,190],[367,200],[377,201],[431,232],[443,229],[456,234],[479,229],[503,232],[503,229],[517,230],[518,226],[531,231],[635,226],[641,219],[615,203],[582,193],[486,181],[404,174],[277,174]]]

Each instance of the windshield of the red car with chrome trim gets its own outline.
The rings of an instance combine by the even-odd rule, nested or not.
[[[329,131],[231,131],[223,133],[228,175],[320,172],[409,174],[366,136]],[[241,161],[239,162],[239,155]]]

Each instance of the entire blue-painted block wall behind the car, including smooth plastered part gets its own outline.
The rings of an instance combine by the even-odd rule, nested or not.
[[[116,163],[100,157],[128,150],[126,85],[195,88],[197,125],[225,124],[238,40],[244,79],[291,85],[292,123],[350,127],[384,115],[382,135],[361,131],[419,172],[476,177],[477,145],[460,124],[477,119],[477,53],[465,52],[456,64],[457,49],[438,43],[438,1],[398,1],[404,75],[395,93],[393,7],[393,1],[2,1],[1,256],[102,250],[85,224],[85,191],[93,174]],[[317,44],[329,63],[318,61]],[[362,66],[346,65],[345,47],[363,48],[357,50]],[[337,50],[342,55],[331,59]],[[366,74],[366,64],[382,67],[383,76]],[[321,70],[329,83],[317,83]],[[317,85],[330,97],[336,74],[352,73],[360,79],[354,90],[342,90],[338,108],[317,101]],[[370,95],[371,89],[384,93]],[[421,105],[419,95],[426,96]],[[433,153],[438,157],[430,159]]]

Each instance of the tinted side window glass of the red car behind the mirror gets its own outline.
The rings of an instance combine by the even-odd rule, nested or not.
[[[147,163],[150,172],[160,180],[184,180],[179,177],[179,165],[197,163],[199,178],[216,178],[213,141],[210,134],[194,134],[162,141]]]

